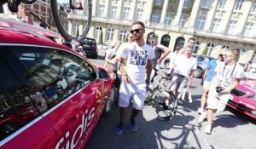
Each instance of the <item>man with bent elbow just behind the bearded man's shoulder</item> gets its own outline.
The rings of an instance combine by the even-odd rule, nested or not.
[[[154,81],[154,77],[157,75],[158,66],[160,65],[161,61],[166,58],[168,54],[170,54],[171,49],[167,48],[166,46],[158,43],[158,36],[154,33],[149,36],[150,46],[154,49],[154,59],[153,59],[153,71],[151,73],[151,83]]]

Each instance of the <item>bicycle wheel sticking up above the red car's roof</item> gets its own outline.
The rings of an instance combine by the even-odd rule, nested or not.
[[[80,1],[80,3],[76,3],[74,0],[50,0],[55,25],[68,42],[81,42],[90,29],[91,0]],[[66,12],[63,9],[65,7],[67,8]],[[66,21],[64,21],[65,16],[67,17]],[[81,25],[84,26],[81,27]],[[83,28],[82,32],[79,31],[81,28]]]

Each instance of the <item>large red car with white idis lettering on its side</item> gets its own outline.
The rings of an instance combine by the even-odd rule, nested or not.
[[[112,106],[114,73],[24,26],[0,20],[0,148],[84,148]]]

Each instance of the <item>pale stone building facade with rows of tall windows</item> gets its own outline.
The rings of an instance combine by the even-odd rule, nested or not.
[[[81,20],[75,20],[82,28]],[[145,40],[155,32],[174,49],[195,37],[195,53],[216,57],[222,48],[241,49],[239,62],[256,62],[255,0],[92,0],[88,37],[125,41],[131,23],[143,21]]]

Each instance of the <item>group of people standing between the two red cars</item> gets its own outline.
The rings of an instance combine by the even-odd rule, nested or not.
[[[143,22],[134,22],[127,35],[128,42],[115,42],[105,57],[108,62],[107,67],[117,76],[116,87],[119,90],[119,123],[115,129],[117,135],[123,133],[126,107],[131,103],[133,109],[129,118],[130,129],[137,131],[136,117],[143,109],[146,91],[157,75],[160,62],[167,55],[170,55],[171,59],[168,72],[172,75],[172,81],[167,89],[178,99],[183,89],[192,85],[197,66],[197,60],[192,56],[195,38],[190,37],[184,48],[176,47],[172,52],[168,47],[158,43],[156,34],[149,36],[149,44],[147,44],[143,39],[144,33]],[[224,110],[230,98],[230,91],[236,88],[244,75],[243,67],[236,63],[238,55],[238,49],[220,50],[218,58],[209,61],[207,71],[203,74],[201,80],[203,91],[198,113],[201,114],[199,122],[203,122],[207,117],[205,128],[207,134],[211,134],[214,114]],[[178,103],[182,105],[181,100],[178,100]]]

